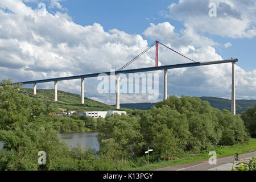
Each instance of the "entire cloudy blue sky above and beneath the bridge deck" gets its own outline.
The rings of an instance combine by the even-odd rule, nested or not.
[[[210,4],[216,16],[210,16]],[[211,11],[213,12],[213,11]],[[196,61],[237,58],[237,99],[256,99],[255,0],[82,1],[0,0],[0,79],[13,82],[107,72],[133,59],[155,40]],[[127,69],[154,66],[151,52]],[[159,65],[188,63],[159,47]],[[231,97],[231,64],[172,69],[168,95]],[[122,94],[121,103],[163,99]],[[85,80],[85,97],[106,104],[115,94],[95,92]],[[26,85],[32,88],[32,85]],[[53,83],[38,84],[53,88]],[[61,81],[60,90],[80,93],[80,80]]]

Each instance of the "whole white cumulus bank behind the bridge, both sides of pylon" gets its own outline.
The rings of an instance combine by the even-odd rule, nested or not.
[[[5,11],[7,9],[9,11]],[[229,16],[235,15],[230,13]],[[161,39],[167,46],[197,61],[222,59],[213,47],[217,43],[198,34],[191,24],[176,31],[169,22],[151,23],[143,34]],[[147,40],[138,34],[117,29],[107,32],[98,23],[81,26],[67,13],[46,11],[42,16],[38,9],[31,9],[21,0],[0,0],[0,79],[10,77],[18,82],[106,72],[119,69],[147,46]],[[154,49],[129,68],[148,67],[150,63],[152,66],[151,57],[154,57]],[[159,47],[159,65],[184,62],[187,60]],[[237,67],[238,98],[256,97],[255,72]],[[162,99],[163,72],[158,73],[159,99]],[[230,64],[172,69],[168,71],[168,94],[229,97],[230,73]],[[114,94],[96,92],[98,82],[97,78],[86,78],[85,97],[114,104]],[[60,90],[80,93],[80,84],[80,80],[68,80],[60,81],[58,86]],[[53,88],[53,83],[38,84],[38,88]],[[154,102],[143,94],[122,94],[121,97],[121,102],[146,101]]]

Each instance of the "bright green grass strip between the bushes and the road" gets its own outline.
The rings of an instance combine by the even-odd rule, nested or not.
[[[241,146],[241,145],[222,146],[222,147],[213,148],[212,151],[216,151],[217,158],[234,155],[235,153],[245,154],[245,153],[249,153],[249,152],[254,152],[254,151],[256,151],[256,138],[251,138],[249,143],[245,144],[243,146]],[[148,166],[146,165],[146,166],[141,166],[141,167],[137,167],[137,168],[130,168],[127,170],[146,171],[146,170],[157,169],[157,168],[162,168],[162,167],[175,166],[175,165],[179,165],[179,164],[199,162],[201,160],[209,159],[208,152],[209,151],[205,151],[204,153],[198,154],[198,155],[187,154],[186,156],[184,156],[184,158],[181,158],[181,159],[169,160],[169,161],[163,161],[163,162],[159,162],[159,163],[150,164],[150,168],[148,168]]]

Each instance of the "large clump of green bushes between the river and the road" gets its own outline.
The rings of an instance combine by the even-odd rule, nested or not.
[[[101,155],[134,162],[134,157],[144,156],[147,147],[154,151],[151,161],[158,162],[175,159],[185,152],[201,152],[248,140],[239,115],[188,96],[170,96],[139,114],[111,115],[102,123],[99,135]]]

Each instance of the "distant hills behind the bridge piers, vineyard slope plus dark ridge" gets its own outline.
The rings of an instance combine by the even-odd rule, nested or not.
[[[92,111],[92,110],[116,110],[115,105],[107,105],[98,101],[91,100],[85,97],[85,104],[81,105],[81,96],[75,93],[64,92],[58,90],[58,101],[54,101],[54,89],[37,89],[36,95],[33,94],[32,89],[20,89],[20,92],[28,94],[30,97],[43,98],[56,104],[59,110],[78,110],[78,111]],[[225,98],[217,97],[200,97],[203,101],[209,101],[210,105],[220,110],[230,110],[231,101]],[[236,100],[237,113],[242,113],[247,107],[254,106],[256,100]],[[120,104],[121,109],[127,113],[132,113],[134,109],[137,110],[148,110],[156,103],[143,102],[143,103],[131,103],[131,104]]]

